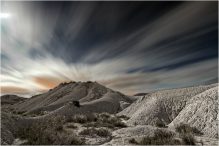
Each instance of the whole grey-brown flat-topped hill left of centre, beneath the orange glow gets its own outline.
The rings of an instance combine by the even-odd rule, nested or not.
[[[67,111],[68,108],[76,108],[72,111],[75,113],[77,107],[71,104],[73,101],[79,101],[81,104],[78,112],[95,110],[95,112],[117,113],[124,108],[124,104],[131,104],[134,98],[106,88],[97,82],[69,82],[15,104],[14,107],[17,111],[27,114],[56,113],[56,110],[61,112],[61,109]]]

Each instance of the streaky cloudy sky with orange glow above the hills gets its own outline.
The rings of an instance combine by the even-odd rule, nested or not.
[[[127,95],[218,82],[218,2],[1,3],[1,95],[97,81]]]

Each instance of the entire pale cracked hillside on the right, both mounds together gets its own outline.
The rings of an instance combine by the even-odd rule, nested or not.
[[[172,121],[175,121],[174,124],[179,124],[180,122],[191,122],[194,123],[193,126],[196,125],[197,128],[203,129],[202,131],[207,136],[215,137],[216,132],[214,132],[214,134],[210,133],[211,131],[216,131],[213,129],[217,128],[217,88],[218,84],[212,84],[207,86],[156,91],[138,99],[122,112],[118,113],[118,115],[126,115],[130,117],[127,122],[129,125],[156,125],[157,121],[163,121],[166,125],[170,124]],[[208,89],[210,89],[210,91],[213,90],[211,91],[212,94],[208,93]],[[204,93],[205,91],[207,92]],[[196,95],[199,95],[202,92],[202,98],[198,98],[199,96]],[[209,96],[205,97],[205,94]],[[199,109],[199,112],[196,113],[196,108],[198,108],[196,105],[201,103],[203,104],[200,105],[201,108]],[[193,111],[189,111],[191,107],[193,107],[191,109]],[[186,115],[187,112],[194,113],[195,115]],[[175,120],[178,115],[182,116]],[[197,118],[198,116],[200,118]],[[185,119],[190,117],[193,117],[193,120]],[[209,119],[201,120],[206,117]],[[195,122],[195,120],[197,121]],[[198,122],[198,120],[200,121]],[[206,126],[203,126],[205,124]]]

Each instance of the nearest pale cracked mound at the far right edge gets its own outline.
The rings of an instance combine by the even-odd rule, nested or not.
[[[218,138],[218,86],[192,97],[169,127],[179,123],[187,123],[208,137]]]

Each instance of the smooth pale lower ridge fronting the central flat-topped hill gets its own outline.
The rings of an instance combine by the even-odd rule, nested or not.
[[[116,92],[109,91],[102,98],[90,102],[83,102],[80,107],[74,106],[71,102],[63,105],[62,107],[54,110],[43,117],[50,117],[54,115],[72,116],[75,114],[89,114],[89,113],[102,113],[107,112],[111,114],[118,113],[123,110],[122,103],[129,103],[130,99],[120,96]]]

